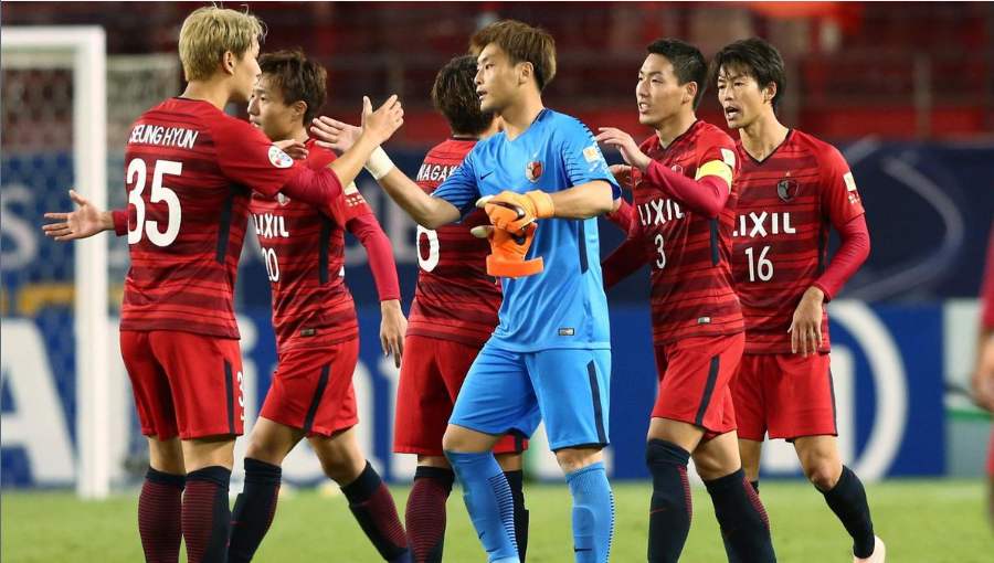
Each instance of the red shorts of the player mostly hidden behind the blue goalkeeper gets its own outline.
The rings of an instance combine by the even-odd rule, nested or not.
[[[393,450],[398,454],[441,456],[442,435],[452,407],[479,348],[410,334],[404,339],[396,390]],[[528,440],[507,435],[494,447],[495,454],[525,452]]]

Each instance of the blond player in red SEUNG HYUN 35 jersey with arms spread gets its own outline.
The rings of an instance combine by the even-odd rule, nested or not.
[[[391,98],[367,111],[351,153],[317,171],[296,166],[258,129],[223,113],[248,102],[263,35],[245,12],[205,7],[188,17],[179,38],[188,86],[135,123],[125,155],[131,269],[120,348],[149,443],[138,506],[148,561],[176,561],[181,538],[190,561],[228,556],[228,488],[244,418],[232,291],[252,190],[329,204],[403,121]],[[94,209],[55,214],[65,221],[46,232],[91,236],[113,227],[110,217]]]

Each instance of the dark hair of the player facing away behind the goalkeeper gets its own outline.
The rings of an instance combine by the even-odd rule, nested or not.
[[[438,71],[432,105],[445,116],[453,134],[477,136],[490,128],[494,114],[480,111],[476,96],[475,56],[457,56]]]

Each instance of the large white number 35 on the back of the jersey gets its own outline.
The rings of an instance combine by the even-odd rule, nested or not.
[[[145,200],[141,195],[145,193],[145,182],[148,179],[148,166],[140,158],[136,158],[128,163],[128,184],[131,184],[131,191],[128,192],[128,205],[135,206],[135,222],[128,225],[128,244],[138,244],[141,242],[142,233],[148,234],[148,240],[156,246],[169,246],[179,235],[180,220],[182,219],[182,210],[179,204],[179,196],[175,191],[162,185],[162,180],[167,176],[180,176],[183,172],[183,163],[172,160],[157,160],[156,172],[152,174],[151,193],[149,194],[149,203],[165,202],[169,214],[169,221],[166,223],[166,231],[159,230],[159,222],[155,220],[145,220]]]

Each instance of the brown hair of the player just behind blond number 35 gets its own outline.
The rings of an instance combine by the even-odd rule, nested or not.
[[[304,102],[304,125],[310,124],[321,106],[328,87],[328,72],[316,61],[307,59],[304,51],[276,51],[258,57],[262,74],[269,77],[271,84],[279,88],[283,103],[287,106]]]

